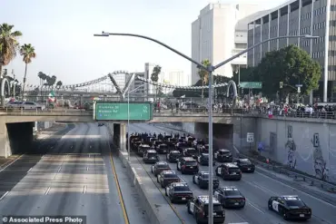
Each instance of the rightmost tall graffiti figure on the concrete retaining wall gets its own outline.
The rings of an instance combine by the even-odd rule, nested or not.
[[[319,133],[314,133],[311,143],[313,146],[313,170],[315,172],[315,177],[321,180],[328,181],[328,168],[327,162],[323,158],[321,143],[320,143],[320,136]]]

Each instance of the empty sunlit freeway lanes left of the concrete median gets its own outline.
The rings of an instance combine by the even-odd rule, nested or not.
[[[125,169],[110,153],[107,128],[80,123],[63,134],[37,144],[40,155],[25,154],[0,171],[0,216],[83,215],[89,224],[148,223]]]

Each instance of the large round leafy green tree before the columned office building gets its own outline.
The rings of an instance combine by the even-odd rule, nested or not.
[[[302,84],[301,94],[308,95],[319,87],[321,67],[313,61],[309,54],[295,45],[289,45],[279,51],[267,53],[254,73],[262,82],[262,93],[272,96],[277,91],[282,98],[288,98],[290,93],[296,93],[295,84]],[[283,88],[280,89],[280,82]]]

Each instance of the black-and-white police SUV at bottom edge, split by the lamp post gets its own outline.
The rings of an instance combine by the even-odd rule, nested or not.
[[[212,199],[213,202],[213,223],[224,223],[225,211],[222,209],[222,204]],[[198,196],[187,202],[188,213],[192,214],[196,219],[196,223],[208,223],[209,216],[209,196]]]

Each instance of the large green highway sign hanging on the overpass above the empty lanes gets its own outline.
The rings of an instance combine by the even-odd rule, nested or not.
[[[153,119],[152,102],[130,102],[130,121],[149,121]],[[97,121],[127,121],[127,102],[96,102],[94,106]]]

